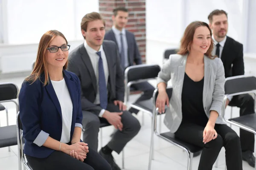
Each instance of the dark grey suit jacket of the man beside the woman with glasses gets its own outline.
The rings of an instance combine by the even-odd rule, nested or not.
[[[102,45],[108,61],[108,102],[113,102],[114,100],[123,101],[125,92],[124,77],[119,62],[117,46],[113,41],[108,40],[104,40]],[[80,79],[82,110],[99,115],[102,108],[94,104],[97,93],[96,76],[84,44],[79,45],[70,53],[67,69],[75,73]]]

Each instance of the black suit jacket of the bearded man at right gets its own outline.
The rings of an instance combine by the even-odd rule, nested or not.
[[[221,53],[221,60],[226,78],[244,75],[243,45],[241,43],[227,37]]]

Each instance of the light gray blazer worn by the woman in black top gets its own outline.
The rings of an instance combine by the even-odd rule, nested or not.
[[[164,123],[172,133],[175,133],[182,120],[181,93],[186,68],[187,55],[170,55],[169,60],[163,65],[158,74],[157,84],[160,82],[172,81],[172,97],[169,101],[170,107],[166,111]],[[224,67],[221,59],[209,59],[204,56],[204,90],[203,105],[204,111],[209,118],[210,111],[221,113],[222,101],[224,98]],[[221,117],[218,117],[216,124],[225,124]]]

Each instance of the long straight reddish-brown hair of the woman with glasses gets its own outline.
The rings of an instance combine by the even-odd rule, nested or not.
[[[49,75],[48,75],[45,54],[46,54],[47,48],[49,47],[50,42],[57,36],[63,37],[67,43],[67,39],[64,37],[64,35],[60,31],[57,31],[57,30],[47,31],[41,37],[41,40],[38,45],[38,52],[37,52],[37,57],[35,60],[35,66],[33,68],[32,73],[28,77],[26,77],[25,81],[33,83],[37,79],[40,79],[41,74],[44,74],[45,75],[44,80],[42,81],[40,79],[40,81],[43,82],[44,85],[47,85],[47,83],[49,82]],[[66,62],[66,64],[64,65],[64,67],[63,67],[64,69],[67,69],[67,63],[68,62]]]

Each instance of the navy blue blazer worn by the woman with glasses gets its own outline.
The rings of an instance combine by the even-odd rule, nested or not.
[[[70,98],[73,103],[70,141],[75,126],[81,127],[81,89],[76,74],[63,71]],[[41,81],[40,81],[41,79]],[[52,83],[44,86],[44,74],[34,83],[24,81],[19,94],[20,120],[25,140],[24,153],[36,158],[46,158],[54,150],[42,146],[48,136],[61,140],[62,115],[61,105]]]

